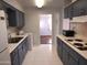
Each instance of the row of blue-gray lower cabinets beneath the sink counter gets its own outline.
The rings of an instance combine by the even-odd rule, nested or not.
[[[22,41],[19,46],[10,54],[11,65],[22,65],[22,62],[29,51],[28,37]]]

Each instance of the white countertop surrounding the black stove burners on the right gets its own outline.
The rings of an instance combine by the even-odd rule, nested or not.
[[[68,46],[70,46],[74,51],[76,51],[78,54],[80,54],[84,58],[87,59],[87,51],[80,51],[78,48],[76,48],[74,45],[69,44],[67,41],[65,41],[66,39],[83,39],[85,41],[87,41],[86,37],[84,36],[75,36],[75,37],[66,37],[64,35],[57,35],[57,37],[59,37],[62,41],[64,41]]]

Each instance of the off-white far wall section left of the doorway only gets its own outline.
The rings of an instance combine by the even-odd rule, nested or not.
[[[25,32],[33,33],[33,44],[40,44],[40,22],[39,12],[36,10],[25,11],[25,26],[23,29]]]

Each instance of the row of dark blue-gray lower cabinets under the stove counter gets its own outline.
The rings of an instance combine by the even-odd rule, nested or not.
[[[87,59],[85,59],[80,54],[70,48],[58,37],[57,53],[64,65],[87,65]]]

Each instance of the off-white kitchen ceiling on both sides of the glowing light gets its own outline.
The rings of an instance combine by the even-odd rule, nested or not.
[[[35,8],[34,0],[18,0],[24,8]],[[44,8],[61,8],[63,0],[45,0]]]

